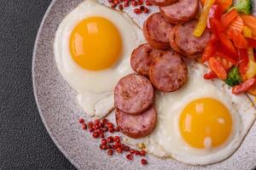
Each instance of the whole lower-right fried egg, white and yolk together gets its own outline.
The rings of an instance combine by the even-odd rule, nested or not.
[[[188,64],[189,81],[177,92],[156,94],[158,123],[143,139],[125,142],[159,157],[207,165],[232,155],[255,120],[247,95],[236,96],[219,80],[207,81],[204,65]]]

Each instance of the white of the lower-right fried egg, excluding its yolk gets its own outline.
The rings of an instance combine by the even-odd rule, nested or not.
[[[207,81],[202,77],[207,68],[189,63],[189,82],[177,92],[156,94],[158,123],[153,133],[143,139],[125,138],[132,145],[143,145],[149,153],[160,157],[172,157],[189,164],[207,165],[223,161],[232,155],[246,136],[255,120],[256,110],[247,95],[236,96],[219,80]],[[224,144],[207,149],[195,149],[187,144],[179,132],[179,116],[189,102],[200,98],[218,99],[230,111],[232,133]]]

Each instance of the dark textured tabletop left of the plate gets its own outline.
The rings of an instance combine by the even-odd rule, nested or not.
[[[32,50],[51,0],[0,0],[0,169],[75,169],[38,114]]]

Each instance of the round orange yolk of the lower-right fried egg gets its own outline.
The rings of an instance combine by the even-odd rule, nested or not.
[[[195,99],[183,109],[179,128],[189,145],[198,149],[216,147],[230,136],[232,117],[217,99]]]

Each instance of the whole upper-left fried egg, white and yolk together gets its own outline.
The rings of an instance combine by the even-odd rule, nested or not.
[[[61,21],[55,34],[55,62],[90,116],[113,110],[113,88],[132,72],[132,50],[143,32],[125,13],[88,0]]]

